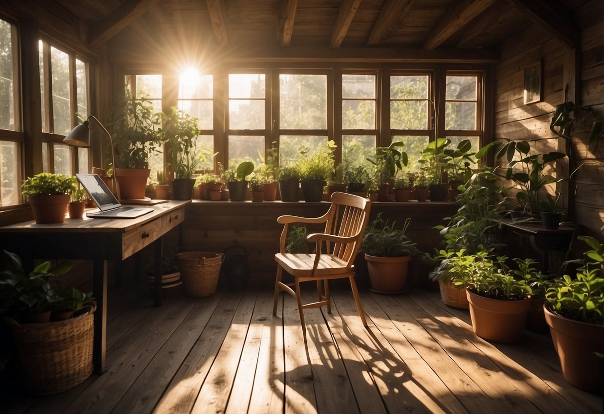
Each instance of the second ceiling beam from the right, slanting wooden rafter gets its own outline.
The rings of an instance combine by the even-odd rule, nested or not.
[[[429,34],[424,48],[432,50],[442,45],[445,40],[449,39],[449,37],[453,36],[453,34],[489,7],[493,1],[462,0],[457,2],[453,10],[450,13],[446,13],[445,17],[432,30],[432,33]]]

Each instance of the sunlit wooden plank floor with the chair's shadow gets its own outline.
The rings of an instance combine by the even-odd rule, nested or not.
[[[564,381],[548,334],[498,345],[472,333],[469,313],[438,292],[350,289],[332,314],[306,311],[307,365],[294,299],[272,316],[270,288],[210,298],[172,295],[153,307],[110,291],[108,371],[48,397],[13,395],[2,412],[28,413],[599,413],[597,395]],[[312,292],[307,294],[312,298]],[[5,410],[7,409],[7,410]]]

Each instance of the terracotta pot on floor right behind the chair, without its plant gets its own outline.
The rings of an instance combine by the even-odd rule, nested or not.
[[[365,253],[371,291],[376,293],[401,293],[407,279],[411,256],[381,257]]]

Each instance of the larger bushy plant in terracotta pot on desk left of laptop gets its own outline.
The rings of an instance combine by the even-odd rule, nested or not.
[[[39,173],[23,181],[21,194],[27,196],[37,224],[63,223],[73,188],[70,176]]]

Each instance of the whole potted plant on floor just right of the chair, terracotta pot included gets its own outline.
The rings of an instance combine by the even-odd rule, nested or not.
[[[408,263],[416,252],[416,244],[405,235],[410,222],[407,218],[402,229],[397,229],[394,221],[388,223],[379,213],[365,229],[362,249],[372,291],[400,293],[405,287]]]

